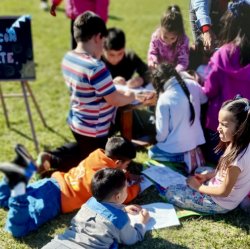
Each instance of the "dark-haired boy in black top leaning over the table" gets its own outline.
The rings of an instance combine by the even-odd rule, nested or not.
[[[102,60],[110,71],[113,82],[138,88],[149,83],[148,66],[132,50],[126,50],[125,33],[119,28],[109,28],[104,43]],[[137,73],[137,76],[134,74]]]

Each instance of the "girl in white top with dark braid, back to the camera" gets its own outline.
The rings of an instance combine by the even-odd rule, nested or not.
[[[190,173],[198,165],[197,151],[202,160],[201,151],[197,149],[205,143],[200,108],[207,97],[190,75],[178,74],[171,64],[159,65],[152,80],[158,95],[155,111],[157,143],[149,149],[148,155],[157,161],[184,162],[184,154],[192,154],[193,162],[186,168]]]

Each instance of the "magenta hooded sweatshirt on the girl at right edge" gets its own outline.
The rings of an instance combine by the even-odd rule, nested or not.
[[[216,131],[218,113],[224,101],[237,94],[250,99],[250,64],[240,65],[240,49],[234,43],[223,45],[209,62],[209,75],[203,90],[208,97],[206,128]]]

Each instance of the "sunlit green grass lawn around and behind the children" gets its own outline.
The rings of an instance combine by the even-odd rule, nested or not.
[[[167,5],[176,3],[182,7],[185,27],[190,36],[188,22],[189,1],[163,0],[111,0],[108,27],[117,26],[126,32],[127,47],[133,48],[144,60],[151,33]],[[36,80],[31,83],[33,93],[39,102],[49,128],[45,128],[31,104],[36,134],[40,149],[55,148],[72,140],[66,125],[69,96],[61,76],[60,62],[70,47],[69,20],[63,6],[54,18],[39,9],[39,0],[1,0],[0,15],[32,16],[33,49],[36,63]],[[191,37],[191,36],[190,36]],[[20,92],[19,82],[1,82],[5,94]],[[32,141],[24,101],[7,99],[11,129],[5,123],[0,108],[0,161],[13,158],[13,146],[24,144],[34,157],[36,152]],[[146,159],[146,152],[140,152],[138,160]],[[138,203],[159,201],[156,190],[149,189],[137,199]],[[0,248],[41,248],[55,234],[63,232],[74,214],[61,215],[42,226],[37,232],[16,240],[3,227],[7,212],[0,210]],[[123,248],[250,248],[250,218],[240,210],[226,215],[185,218],[181,226],[147,233],[145,240],[131,247]]]

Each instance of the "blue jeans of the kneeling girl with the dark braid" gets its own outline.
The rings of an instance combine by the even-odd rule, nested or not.
[[[148,150],[149,158],[160,161],[160,162],[173,162],[173,163],[183,163],[184,153],[168,153],[157,147],[157,145],[152,146]]]

